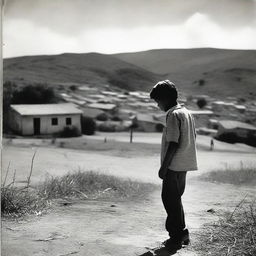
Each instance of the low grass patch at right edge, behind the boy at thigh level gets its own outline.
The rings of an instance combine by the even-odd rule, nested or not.
[[[228,183],[233,185],[256,185],[256,167],[226,168],[215,170],[200,176],[202,180],[210,182]]]

